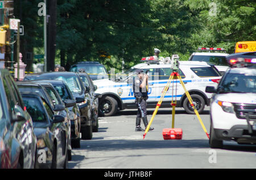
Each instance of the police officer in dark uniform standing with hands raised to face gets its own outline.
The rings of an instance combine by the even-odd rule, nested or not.
[[[137,104],[138,108],[135,131],[144,131],[141,127],[141,118],[145,128],[147,128],[148,121],[146,100],[148,99],[148,95],[146,86],[148,75],[145,74],[142,69],[138,69],[136,72],[137,76],[135,76],[133,80],[133,92],[135,97],[135,103]],[[154,128],[150,127],[149,130],[154,130]]]

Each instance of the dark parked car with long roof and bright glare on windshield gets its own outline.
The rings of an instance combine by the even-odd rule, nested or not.
[[[76,72],[27,74],[23,80],[63,80],[67,83],[79,106],[81,115],[81,139],[92,139],[92,102],[90,102],[89,98],[89,89],[84,87],[80,76]]]

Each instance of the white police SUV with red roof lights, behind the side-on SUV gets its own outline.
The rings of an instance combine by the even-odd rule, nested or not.
[[[225,57],[229,54],[225,53],[224,48],[198,48],[199,52],[192,53],[189,61],[204,61],[209,65],[214,65],[221,75],[228,69]]]

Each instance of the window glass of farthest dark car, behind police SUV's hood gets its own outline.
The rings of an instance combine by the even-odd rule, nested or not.
[[[84,68],[85,72],[87,74],[94,74],[94,75],[102,75],[102,74],[107,74],[105,68],[101,65],[79,65],[79,66],[73,66],[71,67],[71,72],[77,72],[80,68]]]

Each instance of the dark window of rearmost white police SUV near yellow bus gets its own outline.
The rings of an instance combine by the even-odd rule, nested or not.
[[[213,65],[228,66],[225,56],[217,55],[193,55],[191,61],[205,61]]]

